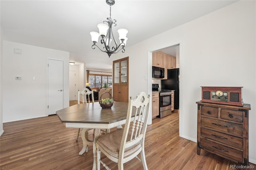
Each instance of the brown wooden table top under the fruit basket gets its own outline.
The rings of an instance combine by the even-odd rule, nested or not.
[[[128,103],[114,102],[111,109],[102,109],[98,102],[73,105],[56,114],[62,123],[110,124],[126,119]]]

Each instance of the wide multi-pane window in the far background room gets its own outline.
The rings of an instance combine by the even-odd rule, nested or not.
[[[89,82],[92,89],[99,87],[112,87],[112,75],[89,74]]]

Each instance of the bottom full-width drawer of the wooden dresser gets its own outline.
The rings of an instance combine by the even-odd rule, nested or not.
[[[206,139],[201,138],[201,146],[205,149],[211,150],[212,152],[221,154],[238,162],[244,162],[243,160],[243,152],[229,148],[227,146],[223,146],[221,144],[217,144],[215,142],[211,142]]]

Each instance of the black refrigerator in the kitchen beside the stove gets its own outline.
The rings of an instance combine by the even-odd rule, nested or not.
[[[179,109],[180,69],[168,69],[167,80],[161,80],[162,90],[174,91],[174,109]]]

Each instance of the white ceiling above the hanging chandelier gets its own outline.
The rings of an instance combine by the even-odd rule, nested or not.
[[[234,2],[116,0],[111,10],[117,21],[113,31],[126,28],[129,47]],[[112,68],[106,53],[91,48],[90,32],[98,32],[97,24],[109,17],[105,0],[1,0],[0,6],[3,40],[69,51],[70,61],[86,63],[86,69]],[[114,36],[118,40],[118,35]],[[175,56],[171,49],[165,50]]]

